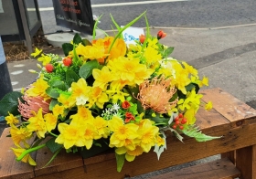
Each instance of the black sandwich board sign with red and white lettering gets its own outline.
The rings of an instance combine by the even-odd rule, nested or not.
[[[52,0],[58,26],[92,35],[94,21],[90,0]]]

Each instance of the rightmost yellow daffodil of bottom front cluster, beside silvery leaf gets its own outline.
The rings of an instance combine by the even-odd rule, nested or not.
[[[152,121],[147,119],[143,120],[143,125],[138,130],[138,138],[141,140],[140,146],[145,153],[148,153],[151,147],[155,146],[158,132],[159,128],[152,125]]]

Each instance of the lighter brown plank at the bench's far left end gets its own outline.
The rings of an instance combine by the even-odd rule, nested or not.
[[[0,153],[0,178],[1,179],[27,179],[35,177],[33,166],[27,163],[17,163],[16,156],[11,147],[16,146],[10,137],[9,128],[5,128],[0,139],[1,153]]]

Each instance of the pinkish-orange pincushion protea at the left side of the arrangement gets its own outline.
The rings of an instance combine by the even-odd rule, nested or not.
[[[25,101],[22,103],[18,99],[18,111],[20,114],[28,119],[30,117],[33,117],[34,114],[32,111],[37,112],[40,108],[42,108],[43,114],[46,114],[49,112],[49,103],[50,100],[44,100],[43,97],[37,96],[37,97],[28,97],[27,95],[24,95],[22,99]],[[26,120],[25,119],[25,120]]]

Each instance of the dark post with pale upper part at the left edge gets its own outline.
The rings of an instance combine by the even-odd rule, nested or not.
[[[0,100],[3,99],[6,93],[11,91],[13,91],[13,87],[5,60],[5,51],[2,38],[0,37]]]

